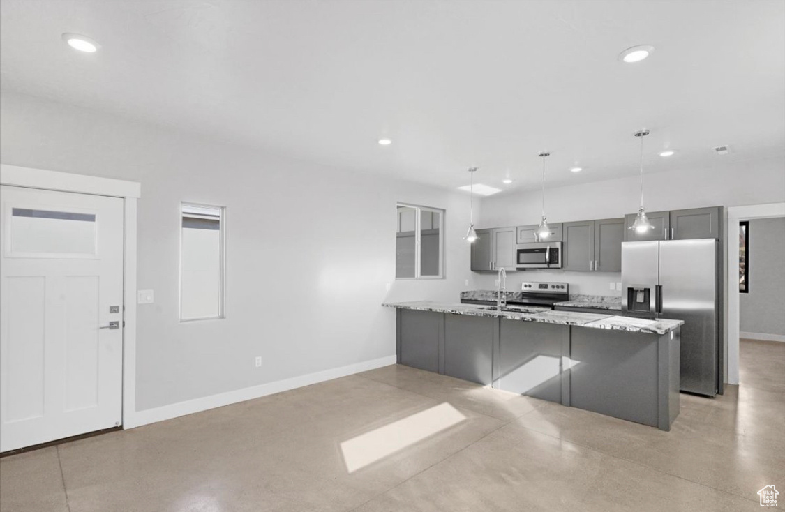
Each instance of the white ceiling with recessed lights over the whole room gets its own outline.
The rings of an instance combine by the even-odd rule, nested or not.
[[[548,149],[565,185],[636,174],[641,127],[647,172],[785,155],[785,2],[3,0],[0,86],[447,187]]]

